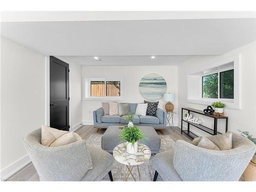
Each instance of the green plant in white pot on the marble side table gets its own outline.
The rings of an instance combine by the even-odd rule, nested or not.
[[[137,126],[125,126],[119,137],[127,141],[126,152],[129,154],[136,154],[138,141],[146,139]]]

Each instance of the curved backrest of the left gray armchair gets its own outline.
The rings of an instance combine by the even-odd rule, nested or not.
[[[92,166],[85,140],[47,147],[37,129],[24,138],[24,146],[41,181],[80,181]]]

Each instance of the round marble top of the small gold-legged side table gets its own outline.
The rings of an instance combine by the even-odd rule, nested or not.
[[[114,158],[124,165],[141,165],[151,157],[151,150],[146,145],[138,143],[138,152],[129,154],[126,152],[127,142],[118,144],[113,150]]]

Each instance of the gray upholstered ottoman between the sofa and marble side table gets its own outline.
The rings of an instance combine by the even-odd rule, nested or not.
[[[118,143],[120,143],[119,135],[121,129],[120,125],[109,126],[101,138],[101,147],[106,152],[112,153],[114,148]],[[142,140],[144,143],[150,147],[151,153],[157,154],[160,150],[160,136],[157,134],[156,130],[151,126],[138,126],[144,136],[147,138]]]

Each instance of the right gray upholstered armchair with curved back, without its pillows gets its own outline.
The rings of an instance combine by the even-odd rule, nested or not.
[[[210,136],[216,137],[216,136]],[[238,181],[255,153],[247,138],[232,134],[232,149],[212,151],[178,140],[175,151],[158,153],[156,169],[165,181]]]

